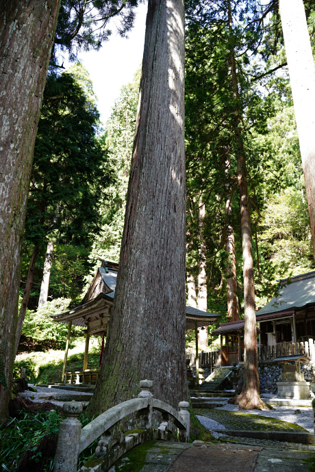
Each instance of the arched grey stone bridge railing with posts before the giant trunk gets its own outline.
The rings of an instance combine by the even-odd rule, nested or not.
[[[153,397],[151,380],[141,380],[138,398],[133,398],[113,406],[92,420],[84,428],[77,416],[82,405],[75,401],[64,404],[66,419],[60,423],[54,472],[76,472],[81,451],[101,436],[95,449],[95,458],[79,469],[81,472],[107,471],[118,458],[132,447],[152,439],[170,439],[177,428],[179,441],[189,441],[189,403],[179,402],[179,411]],[[162,423],[152,428],[153,410],[162,413]],[[123,434],[118,423],[136,413],[137,430]],[[90,462],[90,464],[89,464]]]

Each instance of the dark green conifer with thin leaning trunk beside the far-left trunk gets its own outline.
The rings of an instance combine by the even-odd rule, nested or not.
[[[36,259],[44,252],[47,238],[53,235],[61,243],[86,246],[99,232],[99,207],[110,175],[95,137],[98,124],[97,107],[75,75],[49,74],[27,201],[25,241],[34,244],[34,249],[18,315],[16,351]]]

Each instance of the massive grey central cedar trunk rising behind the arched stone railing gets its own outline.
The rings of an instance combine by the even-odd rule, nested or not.
[[[138,393],[186,398],[184,2],[149,0],[110,334],[88,415]]]

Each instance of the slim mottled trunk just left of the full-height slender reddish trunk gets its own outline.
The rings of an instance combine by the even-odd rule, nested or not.
[[[225,203],[225,217],[227,220],[227,317],[230,322],[236,322],[240,319],[240,310],[238,308],[237,279],[236,279],[236,257],[235,257],[235,239],[234,229],[230,222],[231,215],[231,196]]]

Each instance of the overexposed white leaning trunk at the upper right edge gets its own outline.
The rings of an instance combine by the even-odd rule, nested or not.
[[[279,7],[297,119],[315,261],[315,66],[303,0],[280,0]]]

